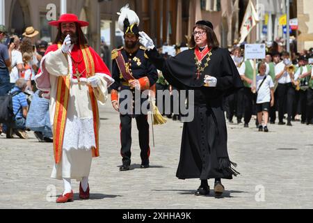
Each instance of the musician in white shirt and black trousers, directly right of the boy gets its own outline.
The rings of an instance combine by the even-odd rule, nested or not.
[[[287,102],[287,125],[291,125],[292,105],[294,103],[294,96],[296,90],[292,85],[294,82],[293,74],[287,72],[288,67],[292,66],[288,52],[282,52],[282,62],[275,66],[275,76],[278,81],[278,125],[284,125],[284,103]]]

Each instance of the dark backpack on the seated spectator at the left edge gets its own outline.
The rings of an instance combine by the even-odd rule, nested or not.
[[[15,93],[8,93],[7,95],[0,96],[0,123],[13,123],[15,116],[19,113],[19,110],[16,114],[13,113],[13,97],[22,93],[22,91],[16,91]]]

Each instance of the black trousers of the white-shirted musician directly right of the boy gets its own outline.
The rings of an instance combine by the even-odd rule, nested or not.
[[[284,105],[287,107],[288,118],[287,121],[291,121],[293,114],[294,97],[296,90],[291,83],[288,84],[278,84],[278,118],[280,122],[284,121]]]

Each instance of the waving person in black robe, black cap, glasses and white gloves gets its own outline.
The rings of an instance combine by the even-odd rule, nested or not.
[[[208,179],[215,178],[216,196],[225,187],[221,178],[237,176],[227,153],[227,128],[223,111],[223,95],[243,88],[239,72],[227,49],[218,47],[214,27],[209,21],[199,21],[193,28],[191,45],[170,59],[159,55],[146,33],[140,32],[140,42],[148,50],[150,61],[163,72],[166,80],[177,89],[194,91],[195,116],[184,123],[177,178],[200,178],[196,196],[209,194]]]

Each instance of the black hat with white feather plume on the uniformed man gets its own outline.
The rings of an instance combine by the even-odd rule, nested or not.
[[[120,15],[118,18],[118,26],[121,31],[125,34],[132,33],[137,35],[139,33],[139,17],[133,10],[129,9],[129,4],[121,8],[118,15]]]

